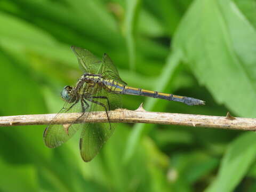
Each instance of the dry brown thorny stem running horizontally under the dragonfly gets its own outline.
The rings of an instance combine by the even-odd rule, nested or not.
[[[232,117],[229,113],[226,117],[207,116],[207,115],[190,115],[175,113],[159,113],[145,111],[141,106],[139,109],[132,111],[126,109],[117,109],[109,111],[110,122],[113,123],[154,123],[167,125],[185,125],[213,127],[218,129],[255,131],[255,118]],[[80,113],[43,115],[18,115],[0,117],[0,126],[18,126],[18,125],[47,125],[51,121],[53,124],[70,124],[73,123]],[[108,122],[106,112],[98,111],[89,113],[79,118],[76,123],[103,123]],[[53,119],[54,118],[54,119]]]

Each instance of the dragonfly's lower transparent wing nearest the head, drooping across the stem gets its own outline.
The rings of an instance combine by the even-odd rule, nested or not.
[[[57,118],[61,113],[80,113],[82,111],[81,103],[78,102],[72,108],[73,103],[66,102],[60,112],[53,118]],[[69,109],[70,108],[70,109]],[[68,110],[69,109],[69,110]],[[44,130],[44,142],[47,147],[54,148],[69,140],[83,124],[56,125],[50,123]]]

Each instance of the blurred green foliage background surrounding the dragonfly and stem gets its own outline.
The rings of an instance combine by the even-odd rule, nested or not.
[[[206,106],[123,96],[150,111],[255,117],[253,0],[2,0],[0,115],[57,113],[78,69],[70,45],[108,53],[131,86]],[[78,138],[43,143],[45,126],[1,127],[0,191],[255,191],[254,132],[119,124],[90,163]],[[254,148],[255,147],[255,148]]]

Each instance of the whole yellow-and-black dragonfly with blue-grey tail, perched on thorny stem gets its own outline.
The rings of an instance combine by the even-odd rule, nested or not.
[[[205,101],[183,97],[174,94],[166,94],[157,91],[149,91],[127,86],[118,74],[113,61],[105,53],[102,59],[98,59],[90,51],[80,47],[71,46],[75,53],[79,67],[83,75],[75,86],[65,86],[61,91],[64,105],[59,113],[52,119],[44,130],[44,142],[47,147],[55,148],[69,140],[82,129],[79,141],[80,153],[85,162],[91,161],[115,130],[114,124],[110,124],[108,111],[122,107],[121,94],[141,95],[178,101],[187,105],[204,105]],[[82,116],[86,119],[92,111],[105,111],[107,123],[76,123]],[[58,125],[52,123],[62,113],[81,113],[81,116],[71,124]]]

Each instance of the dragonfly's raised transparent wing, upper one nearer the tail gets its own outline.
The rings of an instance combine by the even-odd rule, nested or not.
[[[105,53],[102,58],[101,74],[106,79],[113,79],[121,84],[127,85],[119,76],[116,66],[110,57]]]

